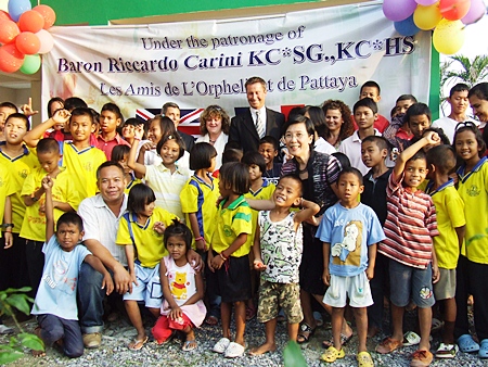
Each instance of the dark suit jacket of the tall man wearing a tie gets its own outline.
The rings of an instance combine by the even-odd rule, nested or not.
[[[282,113],[266,109],[266,135],[270,135],[280,140],[282,136],[285,117]],[[229,130],[229,141],[236,141],[241,144],[244,153],[259,149],[259,136],[254,125],[251,109],[245,113],[236,115],[231,119]]]

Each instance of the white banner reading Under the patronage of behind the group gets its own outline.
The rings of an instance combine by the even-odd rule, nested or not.
[[[350,106],[367,80],[382,87],[381,113],[412,93],[428,102],[431,35],[397,34],[381,4],[345,5],[262,18],[146,26],[54,27],[44,55],[42,102],[77,96],[95,110],[113,101],[125,117],[168,101],[198,115],[219,104],[247,106],[244,83],[268,84],[267,105]],[[155,109],[155,110],[151,110]],[[286,107],[283,107],[284,110]],[[149,110],[149,111],[147,111]]]

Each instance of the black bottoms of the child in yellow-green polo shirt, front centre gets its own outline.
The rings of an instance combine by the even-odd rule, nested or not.
[[[214,251],[214,256],[218,254]],[[234,303],[251,299],[249,256],[229,256],[229,260],[215,273],[208,274],[209,287],[222,298],[222,302]],[[208,283],[207,283],[208,284]]]

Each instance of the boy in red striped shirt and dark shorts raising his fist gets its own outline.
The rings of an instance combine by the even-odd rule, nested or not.
[[[389,257],[393,334],[376,346],[386,354],[402,346],[404,307],[412,300],[419,311],[421,342],[410,366],[428,366],[433,282],[439,278],[433,251],[433,237],[438,236],[436,208],[428,194],[419,190],[428,173],[423,148],[437,145],[439,136],[429,131],[398,156],[387,187],[386,239],[378,252]]]

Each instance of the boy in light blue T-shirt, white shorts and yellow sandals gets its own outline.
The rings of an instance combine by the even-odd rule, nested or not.
[[[339,202],[325,211],[317,238],[323,242],[323,281],[329,289],[323,302],[332,306],[334,345],[322,355],[325,362],[344,358],[341,328],[349,298],[358,327],[358,364],[373,366],[367,349],[367,307],[373,304],[369,280],[374,276],[376,243],[385,238],[373,210],[358,202],[364,190],[357,168],[343,169],[337,178]]]

